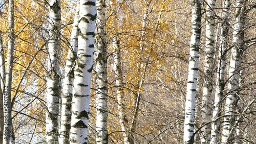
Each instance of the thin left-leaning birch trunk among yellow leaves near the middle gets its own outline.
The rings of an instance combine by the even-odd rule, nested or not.
[[[118,27],[117,25],[117,14],[115,14],[114,19],[114,27]],[[124,109],[124,84],[123,84],[123,74],[122,74],[122,65],[121,65],[121,52],[119,41],[117,39],[117,33],[113,37],[113,49],[115,53],[113,53],[114,63],[112,64],[113,70],[115,71],[115,81],[117,85],[117,104],[118,104],[118,116],[119,116],[119,123],[121,125],[121,130],[123,132],[123,141],[124,144],[130,144],[130,139],[128,138],[129,135],[129,128],[128,128],[128,119],[126,117],[125,109]]]

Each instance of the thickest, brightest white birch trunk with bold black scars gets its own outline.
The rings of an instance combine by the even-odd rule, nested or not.
[[[74,70],[74,94],[70,143],[87,143],[91,77],[93,70],[96,1],[81,0],[78,20],[78,51]]]

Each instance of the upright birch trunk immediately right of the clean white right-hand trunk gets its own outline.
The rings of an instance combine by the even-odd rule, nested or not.
[[[206,6],[206,31],[205,31],[205,59],[204,59],[204,83],[202,99],[202,125],[211,121],[212,111],[212,87],[214,77],[215,54],[215,12],[216,0],[208,0]],[[210,124],[205,125],[200,135],[201,143],[210,143]]]

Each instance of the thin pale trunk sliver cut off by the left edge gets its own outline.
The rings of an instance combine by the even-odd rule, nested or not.
[[[5,82],[5,52],[2,41],[2,34],[0,32],[0,143],[3,143],[3,130],[4,130],[4,107],[3,107],[3,89]]]

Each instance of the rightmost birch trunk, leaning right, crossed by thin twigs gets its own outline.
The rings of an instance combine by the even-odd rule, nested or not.
[[[234,111],[236,111],[238,94],[237,90],[239,88],[239,79],[240,79],[240,68],[241,58],[244,51],[244,19],[245,19],[245,2],[244,0],[237,1],[235,23],[233,25],[233,44],[234,46],[231,49],[230,64],[229,64],[229,73],[228,73],[228,95],[225,104],[224,111],[224,123],[222,131],[222,140],[221,143],[228,143],[232,141],[233,134],[231,133],[231,128],[234,126]]]

